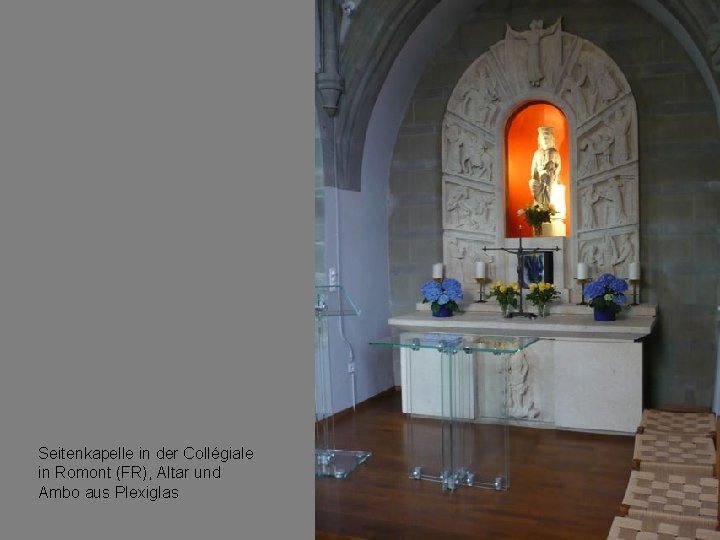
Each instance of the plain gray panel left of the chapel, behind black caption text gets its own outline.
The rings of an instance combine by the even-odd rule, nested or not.
[[[313,534],[313,25],[299,2],[0,6],[0,537]],[[41,446],[206,445],[254,458],[147,482],[174,501],[38,478]]]

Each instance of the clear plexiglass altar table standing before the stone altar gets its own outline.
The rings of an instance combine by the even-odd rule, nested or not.
[[[508,489],[510,358],[535,341],[407,332],[372,342],[400,351],[411,478]]]

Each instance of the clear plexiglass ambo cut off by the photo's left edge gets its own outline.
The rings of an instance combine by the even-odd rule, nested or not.
[[[329,321],[359,313],[342,286],[315,287],[315,476],[345,478],[371,455],[365,450],[335,448]]]

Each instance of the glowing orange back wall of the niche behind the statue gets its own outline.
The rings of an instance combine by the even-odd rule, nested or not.
[[[533,202],[530,190],[532,160],[538,149],[538,128],[552,127],[555,148],[560,153],[562,166],[558,182],[565,186],[566,236],[570,236],[570,154],[568,151],[568,125],[560,109],[546,102],[533,102],[518,109],[508,120],[505,140],[506,184],[505,184],[505,236],[517,238],[518,226],[522,226],[523,237],[532,236],[532,228],[522,216],[520,208]]]

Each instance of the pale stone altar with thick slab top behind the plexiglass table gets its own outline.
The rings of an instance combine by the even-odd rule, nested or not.
[[[392,317],[388,323],[396,332],[539,337],[537,343],[516,353],[510,361],[511,422],[634,433],[643,408],[642,340],[655,325],[656,306],[632,306],[612,322],[594,321],[588,306],[553,304],[552,307],[549,317],[505,319],[497,304],[468,304],[463,306],[462,313],[438,318],[430,314],[427,304],[418,304],[417,311]],[[534,309],[528,306],[525,311]],[[427,404],[424,414],[440,416],[440,398],[432,395],[438,388],[437,369],[428,358],[410,356],[417,352],[404,350],[403,354],[400,366],[403,403],[408,399],[406,366],[413,361],[412,388],[422,393],[422,396],[413,395],[413,402],[422,399]],[[464,411],[464,418],[482,418],[495,413],[490,409],[497,405],[482,399],[483,384],[490,373],[484,371],[498,369],[492,356],[484,353],[483,358],[469,363],[473,367],[463,363],[463,382],[456,391],[472,391],[473,402],[474,394],[478,395],[477,410]]]

